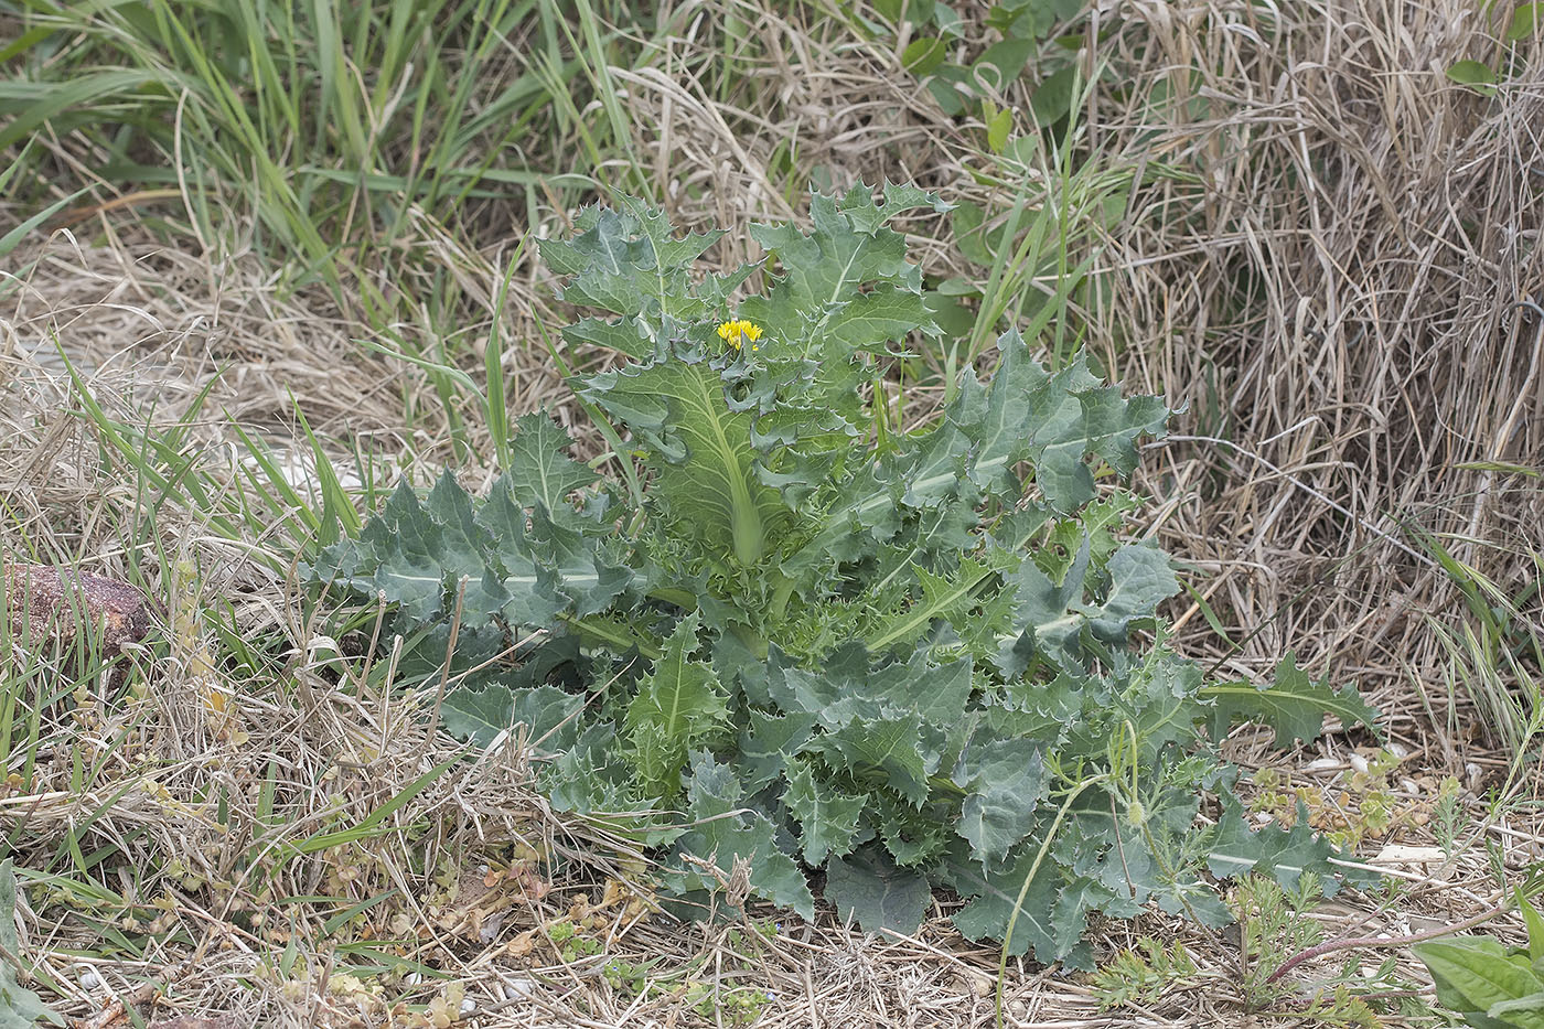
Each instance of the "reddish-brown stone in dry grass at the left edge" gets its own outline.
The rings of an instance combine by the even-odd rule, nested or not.
[[[82,615],[102,630],[102,657],[124,652],[150,632],[150,601],[128,582],[85,572],[66,572],[40,564],[8,564],[5,607],[11,638],[77,643]]]

